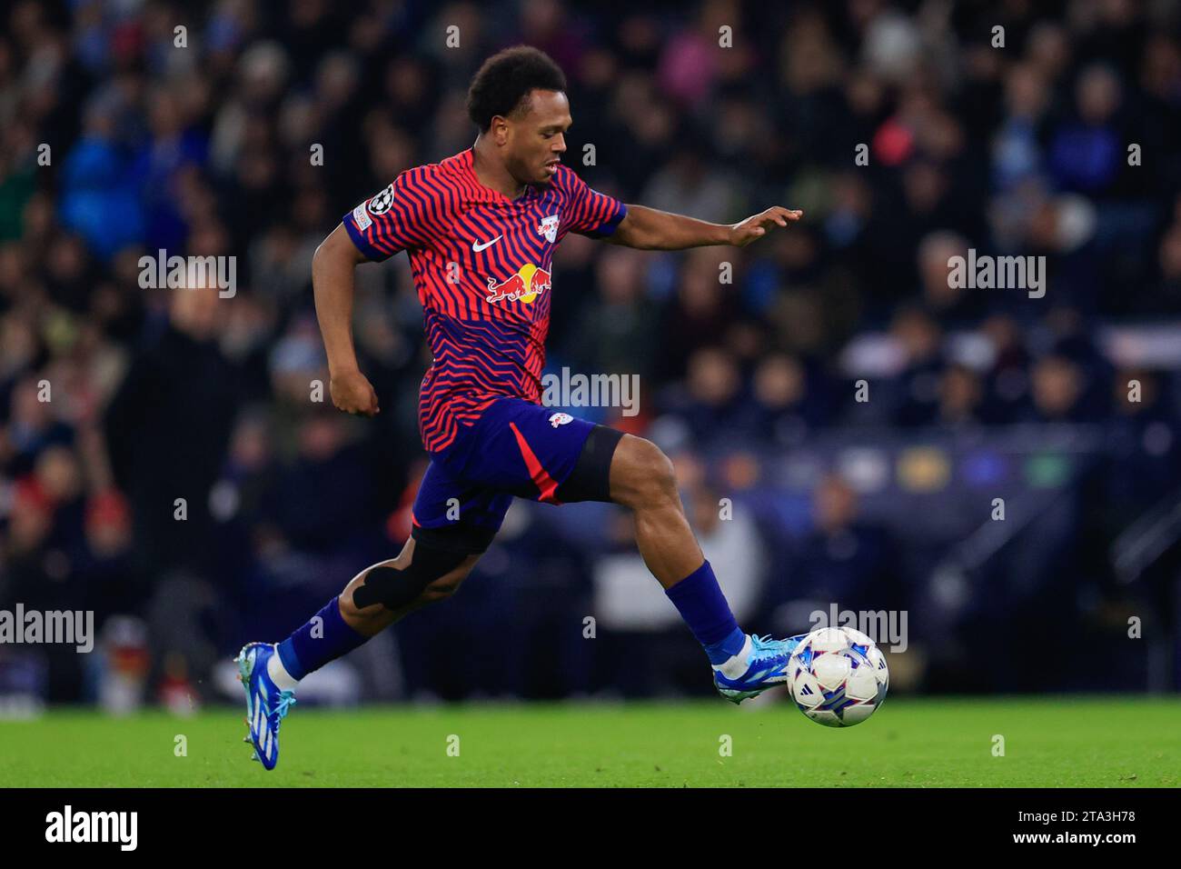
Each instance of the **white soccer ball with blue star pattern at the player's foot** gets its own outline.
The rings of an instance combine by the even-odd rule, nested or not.
[[[817,628],[788,661],[796,706],[816,724],[852,727],[881,706],[889,687],[886,656],[853,628]]]

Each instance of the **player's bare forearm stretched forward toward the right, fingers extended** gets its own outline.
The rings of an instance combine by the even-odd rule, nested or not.
[[[731,245],[745,247],[777,226],[787,226],[803,212],[774,206],[737,223],[710,223],[683,214],[670,214],[644,206],[627,206],[627,214],[606,236],[606,241],[641,251],[681,251],[686,247]]]

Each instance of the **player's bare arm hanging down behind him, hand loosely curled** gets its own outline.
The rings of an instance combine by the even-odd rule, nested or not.
[[[350,414],[373,416],[380,408],[377,393],[357,364],[353,348],[353,270],[365,255],[340,223],[312,258],[312,292],[328,355],[328,394],[332,403]]]

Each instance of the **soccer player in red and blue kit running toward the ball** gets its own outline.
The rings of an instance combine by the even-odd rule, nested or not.
[[[567,233],[647,251],[744,247],[801,212],[774,207],[719,225],[592,190],[562,166],[572,122],[566,78],[535,48],[489,58],[471,82],[468,114],[479,130],[471,148],[402,173],[346,214],[312,262],[332,402],[373,416],[377,394],[351,333],[353,270],[409,253],[433,354],[418,403],[431,461],[398,557],[363,570],[287,640],[248,643],[239,654],[249,741],[268,770],[299,681],[455,594],[514,498],[631,510],[640,555],[704,647],[717,689],[737,703],[787,677],[797,638],[748,635],[735,622],[685,519],[668,458],[642,437],[540,400],[550,261]]]

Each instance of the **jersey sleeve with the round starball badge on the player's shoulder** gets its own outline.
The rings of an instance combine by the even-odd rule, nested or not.
[[[424,247],[439,219],[439,197],[429,181],[404,171],[393,183],[348,212],[341,222],[366,259],[389,259],[399,251]]]

